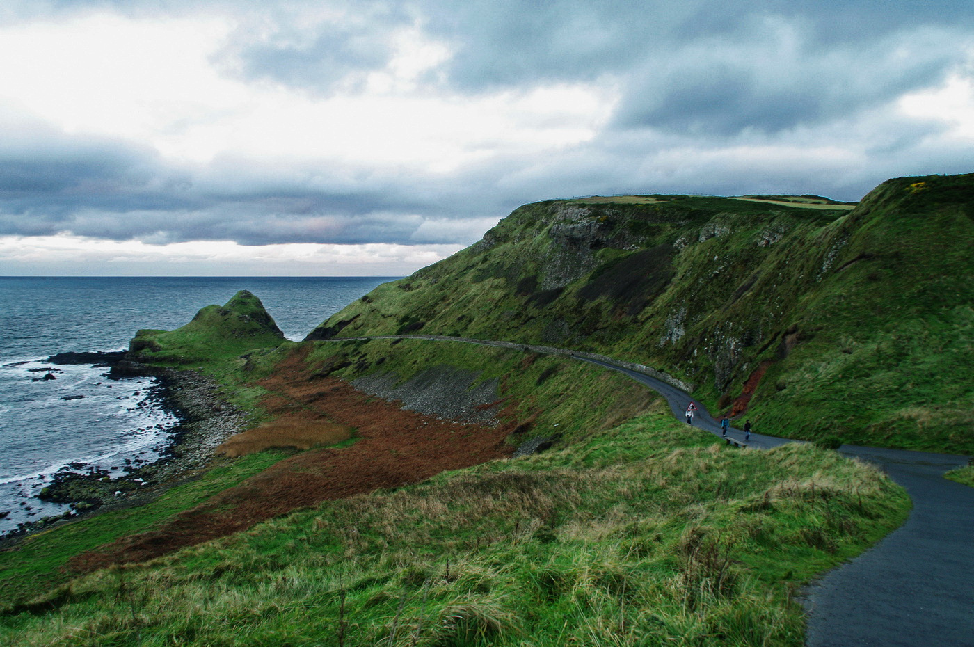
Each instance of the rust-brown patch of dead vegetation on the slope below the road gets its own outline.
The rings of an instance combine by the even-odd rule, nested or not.
[[[260,382],[272,394],[263,406],[281,424],[329,423],[354,429],[354,444],[284,459],[156,530],[77,555],[69,568],[88,572],[144,561],[239,532],[295,508],[415,483],[510,454],[504,439],[511,425],[461,424],[403,410],[399,403],[369,397],[346,382],[313,376],[304,355],[295,353],[274,376]]]

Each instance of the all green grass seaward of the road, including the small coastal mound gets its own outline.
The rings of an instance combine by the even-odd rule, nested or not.
[[[254,381],[295,345],[234,355],[233,312],[217,317],[152,335],[151,353],[175,362],[199,349],[194,362],[253,403]],[[515,441],[560,435],[560,449],[325,502],[143,564],[75,579],[60,570],[283,457],[248,454],[143,508],[0,554],[0,642],[800,645],[795,590],[908,514],[902,489],[871,467],[813,445],[727,447],[590,364],[425,340],[308,344],[312,376],[392,372],[403,383],[463,367],[473,383],[498,384],[502,417],[520,422]],[[254,430],[253,449],[274,426]]]

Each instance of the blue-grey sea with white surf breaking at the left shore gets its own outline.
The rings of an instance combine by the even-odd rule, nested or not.
[[[179,327],[241,289],[300,340],[396,278],[0,277],[0,535],[69,511],[37,498],[58,471],[121,476],[158,459],[178,423],[154,379],[110,380],[105,367],[50,356],[126,349],[136,330]]]

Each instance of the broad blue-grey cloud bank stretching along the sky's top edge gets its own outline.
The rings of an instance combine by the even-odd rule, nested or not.
[[[17,3],[15,3],[17,4]],[[619,128],[775,132],[929,87],[967,56],[969,0],[48,0],[145,15],[201,9],[239,23],[227,70],[330,94],[386,67],[396,29],[421,25],[453,56],[428,82],[479,94],[618,78]],[[33,7],[34,9],[30,9]],[[38,7],[40,9],[38,9]],[[314,8],[326,8],[316,14]]]

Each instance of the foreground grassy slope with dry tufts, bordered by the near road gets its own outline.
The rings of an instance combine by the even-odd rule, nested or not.
[[[571,450],[327,502],[94,573],[50,595],[50,610],[8,615],[0,637],[800,645],[794,588],[908,508],[899,487],[835,452],[728,449],[660,410]]]

